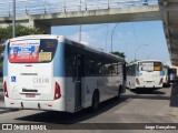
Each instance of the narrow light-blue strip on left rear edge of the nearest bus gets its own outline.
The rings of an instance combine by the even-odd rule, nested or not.
[[[8,47],[4,48],[3,57],[3,76],[8,75]]]

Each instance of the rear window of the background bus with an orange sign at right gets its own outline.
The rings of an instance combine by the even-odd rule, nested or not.
[[[140,62],[139,71],[161,71],[161,62]]]

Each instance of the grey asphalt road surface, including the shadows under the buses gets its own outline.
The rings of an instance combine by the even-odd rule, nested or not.
[[[178,101],[176,101],[178,100],[176,99],[178,93],[176,89],[178,90],[177,86],[164,88],[156,91],[127,90],[127,93],[119,100],[112,99],[101,103],[99,110],[95,113],[91,113],[89,109],[75,114],[34,110],[7,112],[0,114],[0,123],[40,123],[55,125],[52,126],[53,129],[65,126],[66,130],[72,129],[72,125],[76,123],[85,123],[77,126],[79,129],[77,132],[82,132],[80,130],[87,125],[95,131],[106,130],[107,126],[113,131],[115,127],[112,129],[110,123],[113,123],[113,125],[116,123],[125,123],[123,126],[128,123],[178,123]],[[2,105],[3,101],[0,104]],[[119,126],[119,124],[116,124],[116,126]],[[135,124],[128,124],[128,126],[135,130]],[[136,124],[136,126],[138,125]],[[88,130],[90,127],[87,127],[85,132],[91,132],[91,130]],[[134,132],[132,130],[122,130],[121,132]],[[68,132],[73,132],[73,130],[68,130]],[[149,131],[139,130],[139,132],[147,133]],[[155,132],[176,133],[177,131],[155,130]]]

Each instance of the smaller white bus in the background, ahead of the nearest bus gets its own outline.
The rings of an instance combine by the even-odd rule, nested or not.
[[[127,88],[162,88],[162,63],[156,60],[136,61],[127,65]]]

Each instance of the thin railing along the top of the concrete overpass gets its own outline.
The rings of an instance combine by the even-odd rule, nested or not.
[[[158,4],[158,0],[17,0],[16,14],[29,16],[155,4]],[[0,17],[11,17],[13,14],[12,7],[12,0],[0,2]]]

